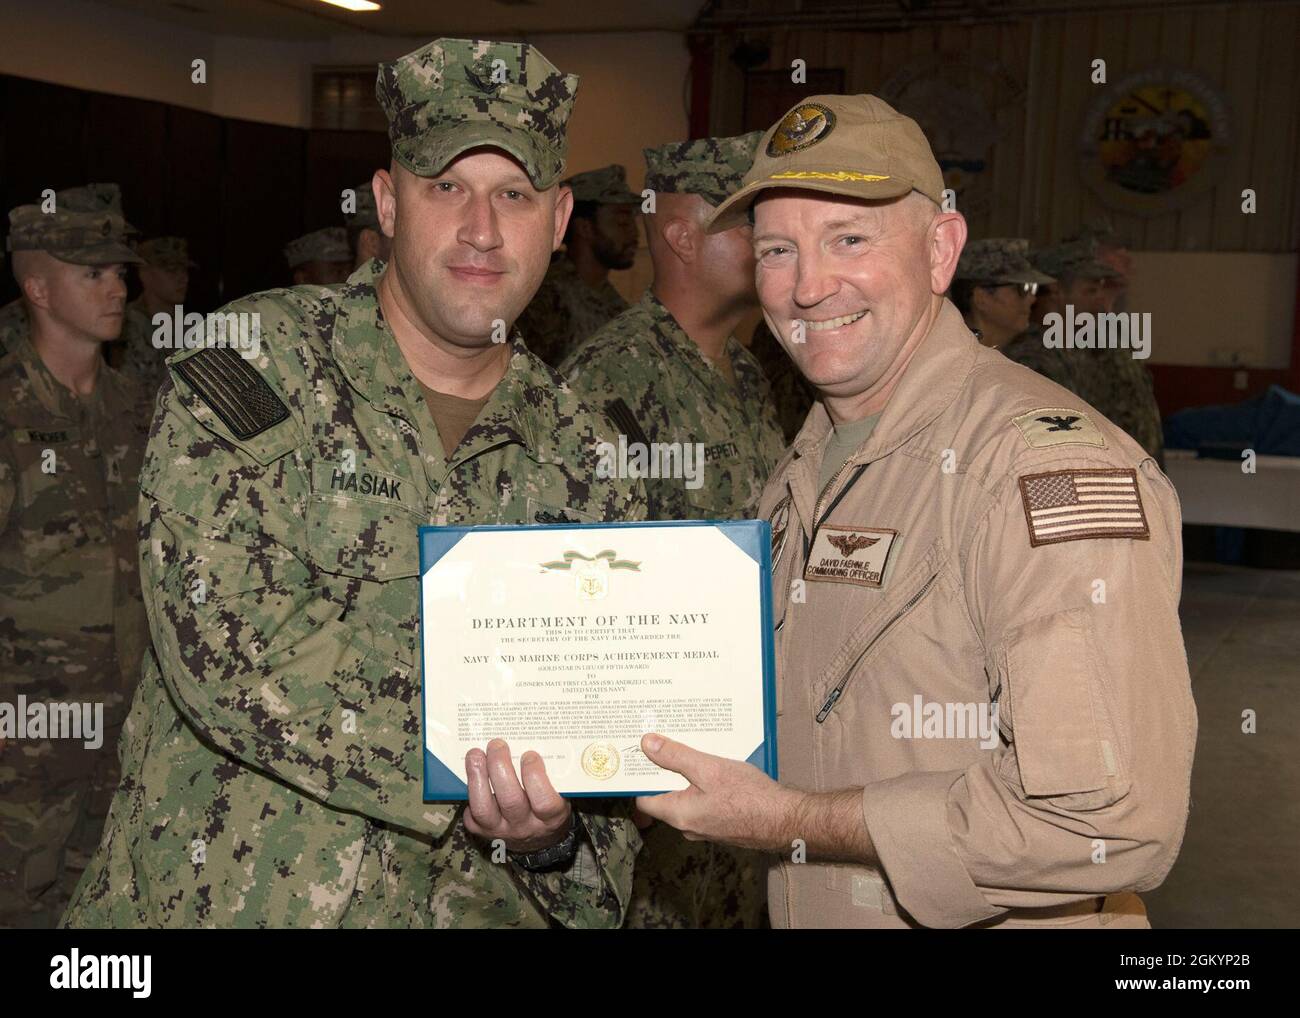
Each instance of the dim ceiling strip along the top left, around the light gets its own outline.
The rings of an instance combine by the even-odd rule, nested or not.
[[[377,0],[350,13],[320,0],[98,0],[100,4],[214,35],[312,40],[373,34],[511,36],[585,31],[684,31],[703,0]]]

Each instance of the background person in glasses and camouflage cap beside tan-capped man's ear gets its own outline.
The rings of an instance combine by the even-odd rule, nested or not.
[[[1018,237],[971,241],[962,248],[949,296],[975,338],[994,350],[1030,328],[1040,286],[1050,276],[1030,264],[1030,242]]]

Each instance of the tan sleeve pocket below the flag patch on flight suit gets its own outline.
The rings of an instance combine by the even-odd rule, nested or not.
[[[1035,619],[1005,645],[1010,727],[1026,796],[1100,809],[1126,790],[1088,608]]]

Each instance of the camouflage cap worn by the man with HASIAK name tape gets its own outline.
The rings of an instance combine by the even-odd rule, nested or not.
[[[560,74],[528,43],[437,39],[380,64],[374,95],[393,157],[420,177],[478,146],[517,159],[540,191],[564,172],[577,75]]]

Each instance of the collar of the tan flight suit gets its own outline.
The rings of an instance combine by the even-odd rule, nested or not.
[[[880,459],[915,436],[957,398],[975,364],[979,343],[961,312],[944,299],[930,333],[913,354],[893,395],[880,413],[875,430],[849,462]],[[820,454],[833,425],[818,399],[794,437],[794,458]]]

